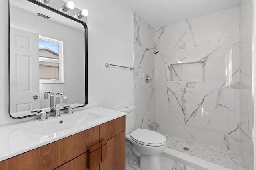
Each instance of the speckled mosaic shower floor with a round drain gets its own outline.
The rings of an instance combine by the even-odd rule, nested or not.
[[[240,160],[240,156],[237,152],[180,137],[174,137],[166,133],[162,133],[162,135],[166,137],[167,147],[170,149],[195,156],[202,160],[206,160],[232,170],[249,169],[248,167],[242,166],[242,161]],[[185,148],[185,150],[183,148]],[[249,162],[247,164],[249,164]]]

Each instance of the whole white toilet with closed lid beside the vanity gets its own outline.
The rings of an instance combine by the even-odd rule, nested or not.
[[[159,154],[166,148],[166,137],[155,131],[136,129],[135,106],[124,106],[116,109],[126,112],[126,153],[129,164],[135,170],[161,170]]]

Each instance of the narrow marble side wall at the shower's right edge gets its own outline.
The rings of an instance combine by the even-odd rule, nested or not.
[[[240,115],[238,129],[242,163],[251,169],[252,160],[252,0],[240,3]],[[234,133],[235,132],[234,130]],[[230,135],[232,137],[232,135]],[[246,165],[246,160],[248,165]]]

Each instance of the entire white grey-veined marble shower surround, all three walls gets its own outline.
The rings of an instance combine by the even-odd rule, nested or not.
[[[134,13],[136,128],[235,151],[250,169],[251,48],[252,0],[157,29]],[[170,64],[197,61],[205,63],[204,82],[170,82]]]

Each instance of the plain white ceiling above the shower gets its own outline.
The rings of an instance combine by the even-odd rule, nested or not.
[[[122,0],[152,27],[158,28],[237,6],[240,0]]]

